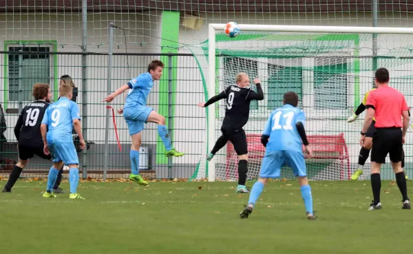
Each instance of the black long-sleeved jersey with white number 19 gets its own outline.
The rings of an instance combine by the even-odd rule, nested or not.
[[[14,136],[19,141],[19,145],[26,147],[43,146],[40,125],[49,105],[44,100],[35,100],[23,108],[14,127]]]

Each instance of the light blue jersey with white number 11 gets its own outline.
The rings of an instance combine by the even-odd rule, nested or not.
[[[270,136],[266,153],[271,151],[297,151],[302,153],[301,137],[295,124],[306,122],[301,109],[286,104],[271,112],[262,135]]]

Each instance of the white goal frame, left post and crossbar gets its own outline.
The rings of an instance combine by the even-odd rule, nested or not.
[[[224,30],[226,24],[210,23],[208,29],[208,97],[215,96],[215,32]],[[353,34],[413,34],[413,28],[386,28],[362,26],[322,26],[322,25],[246,25],[238,24],[240,31],[271,31],[271,32],[321,32],[321,33],[353,33]],[[207,146],[209,150],[215,145],[215,104],[207,121]],[[207,151],[209,152],[209,151]],[[208,181],[215,182],[215,158],[208,163]]]

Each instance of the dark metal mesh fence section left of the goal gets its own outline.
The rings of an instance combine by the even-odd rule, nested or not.
[[[130,173],[131,138],[123,116],[116,113],[123,107],[124,95],[112,103],[107,121],[108,54],[49,52],[48,48],[17,47],[0,52],[0,104],[3,106],[7,129],[0,141],[0,176],[8,176],[12,160],[18,160],[17,140],[13,129],[21,109],[32,98],[34,83],[50,83],[52,101],[59,97],[59,77],[70,75],[78,89],[76,103],[81,111],[83,136],[89,148],[78,153],[79,171],[83,178],[125,178]],[[205,100],[202,76],[191,54],[113,54],[110,76],[111,91],[131,78],[147,72],[153,59],[166,63],[162,78],[155,82],[147,105],[165,116],[172,144],[185,155],[167,158],[157,126],[147,123],[142,133],[140,173],[148,178],[190,178],[200,159],[204,140],[205,112],[196,103]],[[116,141],[114,120],[120,147]],[[108,129],[107,145],[105,130]],[[6,138],[6,140],[4,140]],[[106,151],[105,151],[106,149]],[[121,151],[120,151],[121,149]],[[106,156],[105,156],[106,154]],[[104,176],[105,159],[107,171]],[[34,157],[22,177],[45,177],[51,162]],[[67,177],[66,168],[63,177]]]

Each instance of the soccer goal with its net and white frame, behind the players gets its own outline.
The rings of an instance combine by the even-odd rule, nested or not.
[[[312,180],[348,180],[357,169],[364,113],[353,123],[346,120],[374,87],[377,67],[390,71],[390,85],[411,105],[407,95],[412,94],[412,29],[240,25],[240,34],[230,38],[223,26],[210,24],[209,40],[190,48],[204,73],[209,98],[234,85],[239,72],[248,74],[255,91],[253,78],[262,81],[264,100],[251,102],[244,126],[250,180],[260,173],[265,152],[260,137],[266,120],[282,106],[288,91],[299,94],[299,107],[306,114],[306,134],[315,154],[311,159],[305,154]],[[221,100],[209,106],[207,152],[221,135],[225,105]],[[237,163],[228,142],[193,179],[235,181]],[[364,176],[368,175],[370,160],[364,167]],[[280,177],[295,178],[288,167],[282,168]]]

